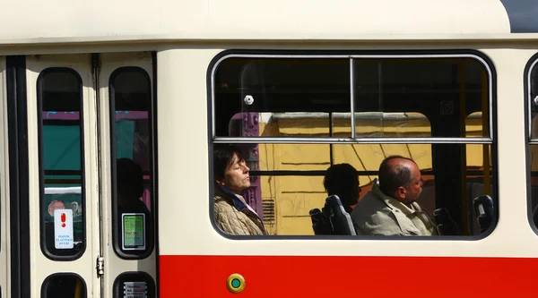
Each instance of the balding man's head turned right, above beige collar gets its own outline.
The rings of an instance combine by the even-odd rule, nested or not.
[[[411,204],[422,192],[419,166],[411,159],[401,156],[385,158],[379,166],[379,189],[387,196]]]

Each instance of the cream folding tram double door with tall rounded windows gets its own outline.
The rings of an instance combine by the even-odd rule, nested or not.
[[[152,54],[28,55],[32,297],[155,297]]]

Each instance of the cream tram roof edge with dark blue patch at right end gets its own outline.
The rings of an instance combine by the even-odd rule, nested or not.
[[[20,0],[2,11],[2,46],[538,38],[530,0]]]

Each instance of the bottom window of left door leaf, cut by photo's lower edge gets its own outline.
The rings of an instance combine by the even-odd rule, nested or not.
[[[73,273],[56,273],[43,281],[41,298],[86,298],[86,284]]]

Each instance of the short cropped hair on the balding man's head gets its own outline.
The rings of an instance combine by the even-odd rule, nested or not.
[[[393,155],[385,158],[379,166],[379,189],[381,192],[391,196],[400,186],[409,187],[412,182],[411,169],[400,163],[391,163],[393,159],[406,159],[414,161],[411,158],[404,158],[399,155]]]

